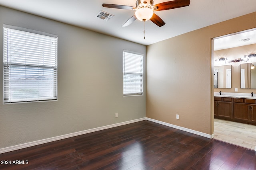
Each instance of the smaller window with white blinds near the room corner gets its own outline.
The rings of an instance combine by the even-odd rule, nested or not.
[[[124,96],[143,94],[143,55],[124,51]]]

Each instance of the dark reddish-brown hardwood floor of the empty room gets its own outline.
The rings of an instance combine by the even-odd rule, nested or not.
[[[4,170],[256,170],[254,150],[150,121],[3,153],[0,160],[11,160],[0,164]]]

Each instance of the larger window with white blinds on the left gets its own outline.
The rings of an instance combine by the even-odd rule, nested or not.
[[[4,103],[57,100],[57,36],[4,25]]]

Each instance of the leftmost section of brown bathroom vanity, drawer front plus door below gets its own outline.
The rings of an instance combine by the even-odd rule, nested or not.
[[[214,97],[214,117],[231,120],[232,98]]]

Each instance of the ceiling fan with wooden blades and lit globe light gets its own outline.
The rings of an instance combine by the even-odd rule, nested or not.
[[[172,0],[168,2],[162,2],[160,4],[154,5],[153,0],[137,0],[136,7],[126,6],[126,5],[116,5],[116,4],[102,4],[106,8],[117,8],[123,10],[135,10],[135,15],[127,20],[122,27],[130,25],[136,19],[140,21],[152,21],[159,27],[162,27],[165,23],[164,21],[154,13],[154,11],[170,10],[174,8],[180,8],[184,6],[189,6],[190,0]]]

